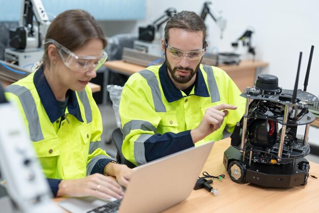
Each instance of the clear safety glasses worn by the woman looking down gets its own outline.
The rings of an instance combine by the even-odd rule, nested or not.
[[[57,47],[58,53],[63,63],[65,64],[65,66],[72,69],[73,71],[87,72],[92,68],[94,68],[94,70],[97,70],[108,59],[108,54],[104,50],[102,50],[101,56],[98,57],[77,56],[72,51],[65,48],[63,45],[53,39],[46,39],[43,44],[46,43],[52,43]]]

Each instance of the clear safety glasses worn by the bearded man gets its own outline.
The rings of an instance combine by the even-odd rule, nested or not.
[[[181,51],[177,50],[175,48],[171,48],[165,39],[165,46],[168,50],[168,53],[175,59],[181,60],[184,56],[186,56],[189,60],[194,61],[199,58],[201,58],[206,51],[207,48],[207,43],[204,41],[203,49],[202,50],[197,50],[197,51]]]

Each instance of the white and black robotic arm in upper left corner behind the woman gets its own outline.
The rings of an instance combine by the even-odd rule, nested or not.
[[[41,0],[22,0],[20,27],[10,30],[10,46],[19,50],[40,48],[41,36],[45,36],[49,25]]]

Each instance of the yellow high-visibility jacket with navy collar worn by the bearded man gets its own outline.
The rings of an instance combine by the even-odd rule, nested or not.
[[[231,78],[214,66],[200,65],[189,96],[174,86],[165,64],[132,75],[119,107],[124,157],[143,164],[192,147],[190,130],[198,127],[207,108],[235,105],[237,109],[229,110],[221,128],[195,145],[222,139],[223,130],[232,132],[244,114],[246,100],[240,94]]]

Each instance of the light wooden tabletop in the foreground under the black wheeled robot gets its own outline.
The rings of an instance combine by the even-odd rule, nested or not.
[[[223,165],[224,151],[230,145],[230,138],[217,141],[212,147],[202,170],[211,175],[225,174],[220,182],[214,180],[213,187],[219,195],[214,196],[205,190],[193,191],[190,197],[163,211],[175,212],[319,212],[319,180],[308,178],[305,186],[292,188],[265,188],[251,183],[238,184],[230,180]],[[319,164],[310,162],[310,175],[319,175]],[[200,174],[200,176],[202,176]],[[182,177],[181,177],[182,178]],[[59,202],[64,198],[56,198]]]

